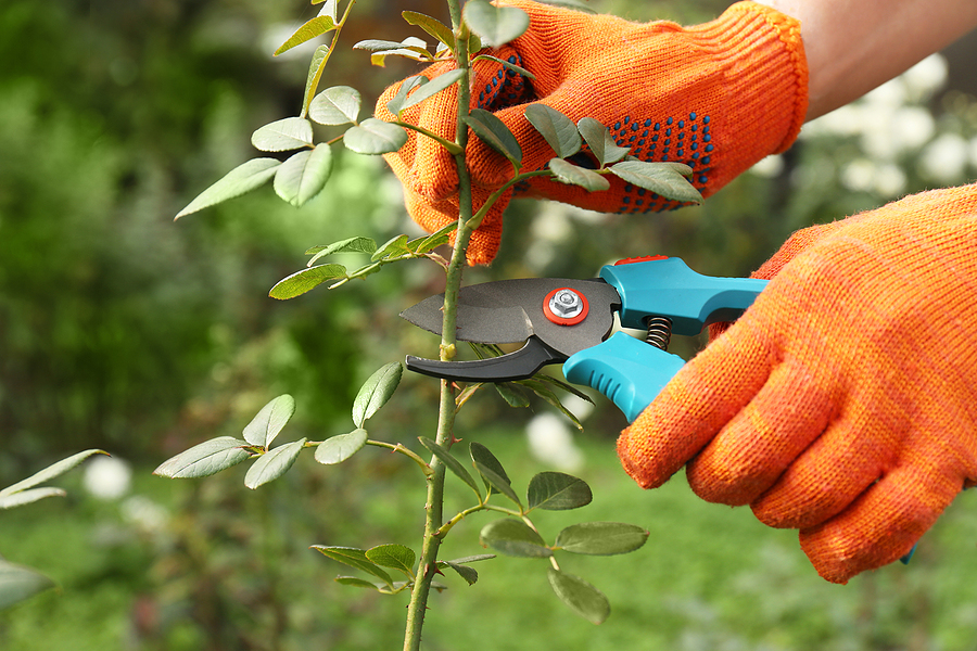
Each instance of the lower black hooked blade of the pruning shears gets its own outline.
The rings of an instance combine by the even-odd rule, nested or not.
[[[407,368],[432,378],[460,382],[509,382],[532,378],[547,363],[566,360],[566,356],[549,349],[538,339],[531,336],[518,350],[486,359],[440,361],[408,355]]]

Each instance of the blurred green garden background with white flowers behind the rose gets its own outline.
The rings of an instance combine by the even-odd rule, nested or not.
[[[683,23],[725,7],[591,2]],[[404,9],[445,14],[433,0],[363,0],[343,41],[421,36],[399,20]],[[417,547],[423,482],[414,468],[372,450],[333,468],[302,459],[257,492],[243,487],[241,469],[198,482],[150,474],[194,443],[239,434],[281,393],[299,404],[293,438],[348,431],[356,387],[373,369],[407,352],[433,354],[432,337],[396,315],[439,291],[434,268],[394,267],[286,303],[267,297],[312,245],[417,232],[380,161],[343,155],[323,195],[302,209],[266,188],[173,222],[253,155],[255,128],[296,113],[308,50],[270,52],[315,11],[300,0],[0,3],[0,486],[89,447],[125,462],[89,463],[59,482],[67,498],[0,513],[0,554],[61,586],[0,612],[2,649],[399,644],[406,600],[338,586],[341,567],[308,546]],[[584,277],[649,253],[746,275],[797,228],[973,179],[975,54],[967,39],[809,125],[790,152],[701,207],[621,217],[517,202],[498,260],[469,279]],[[365,53],[341,49],[325,85],[354,85],[369,102],[414,69],[370,67]],[[674,349],[690,355],[701,343]],[[410,445],[431,431],[434,386],[404,384],[371,435]],[[596,495],[582,515],[652,532],[635,554],[567,562],[607,592],[611,618],[578,620],[549,593],[543,567],[502,559],[478,566],[474,587],[446,579],[427,648],[977,644],[974,496],[954,503],[909,567],[832,586],[792,533],[702,503],[681,477],[638,489],[618,468],[613,439],[624,423],[606,400],[581,411],[583,433],[537,419],[542,434],[529,437],[528,422],[551,411],[511,410],[486,393],[462,412],[459,432],[488,445],[522,486],[534,472],[572,465]],[[457,527],[446,553],[481,551],[485,522]],[[553,535],[563,521],[541,524],[550,522]]]

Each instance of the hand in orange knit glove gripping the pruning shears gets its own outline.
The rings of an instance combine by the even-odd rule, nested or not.
[[[646,488],[800,529],[846,583],[899,559],[977,480],[977,184],[796,233],[756,303],[623,432]]]

